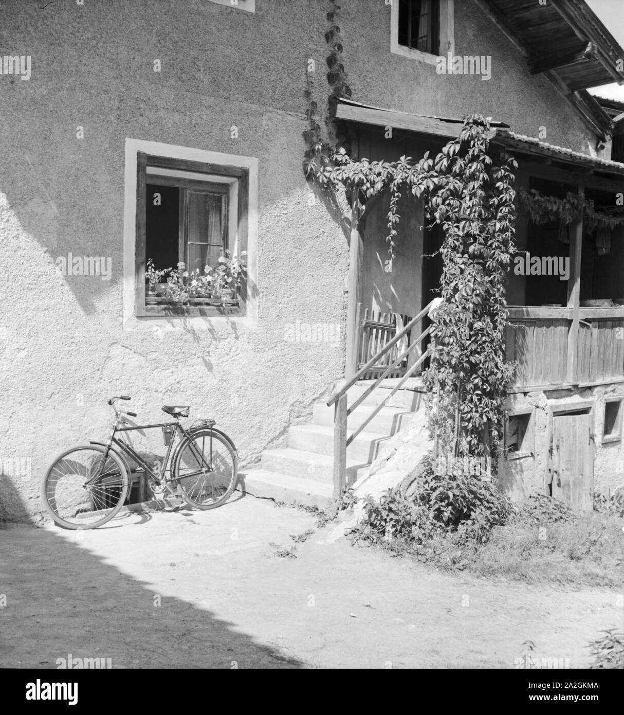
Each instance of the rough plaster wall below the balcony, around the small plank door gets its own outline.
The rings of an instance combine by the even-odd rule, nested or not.
[[[545,470],[548,465],[550,432],[548,413],[553,404],[565,405],[579,400],[593,400],[594,440],[594,489],[610,493],[624,488],[624,450],[622,442],[601,444],[605,415],[605,398],[624,398],[622,385],[586,388],[585,390],[560,390],[548,393],[512,395],[507,400],[508,409],[535,408],[535,458],[500,460],[498,478],[500,485],[514,499],[525,498],[529,494],[547,493]]]

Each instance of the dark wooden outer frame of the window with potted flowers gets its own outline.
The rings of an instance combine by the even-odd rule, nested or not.
[[[147,152],[137,151],[137,205],[134,260],[134,315],[135,317],[244,317],[247,313],[247,279],[241,282],[238,295],[238,305],[146,305],[145,304],[145,267],[146,256],[146,202],[148,172],[150,169],[169,169],[172,172],[189,172],[207,177],[203,182],[210,183],[209,177],[227,177],[237,184],[238,206],[237,225],[230,226],[230,231],[236,235],[235,246],[238,252],[247,251],[248,212],[249,212],[249,169],[196,162],[189,159],[159,157]],[[164,179],[166,174],[149,174],[152,179]],[[179,177],[170,177],[177,180]],[[164,183],[164,182],[163,182]],[[172,184],[169,184],[172,185]],[[202,182],[189,179],[189,186],[201,186]],[[184,207],[183,207],[184,208]],[[186,218],[183,210],[180,221]],[[182,233],[182,232],[181,232]],[[232,234],[230,234],[232,235]],[[182,239],[181,239],[182,240]]]

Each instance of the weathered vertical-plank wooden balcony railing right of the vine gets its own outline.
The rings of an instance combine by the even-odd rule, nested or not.
[[[624,380],[624,307],[510,307],[507,360],[517,360],[513,392]]]

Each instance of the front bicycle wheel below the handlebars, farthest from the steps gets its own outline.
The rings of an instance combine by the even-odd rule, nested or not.
[[[41,496],[50,516],[68,529],[94,529],[110,521],[129,492],[128,471],[100,445],[73,447],[47,471]]]

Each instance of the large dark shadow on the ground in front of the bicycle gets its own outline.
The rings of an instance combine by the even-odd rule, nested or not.
[[[124,514],[99,531],[148,518]],[[129,531],[136,536],[136,529]],[[57,659],[68,654],[111,659],[114,668],[304,666],[234,630],[204,606],[154,593],[148,583],[89,553],[80,538],[79,532],[56,526],[9,524],[0,530],[0,594],[5,596],[0,606],[6,602],[0,607],[1,667],[57,668]],[[19,543],[14,553],[11,542]],[[65,584],[61,591],[59,574]],[[219,579],[214,588],[232,584]]]

